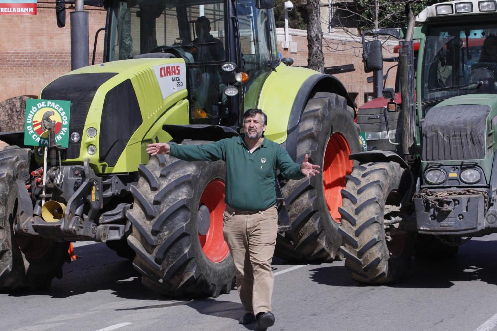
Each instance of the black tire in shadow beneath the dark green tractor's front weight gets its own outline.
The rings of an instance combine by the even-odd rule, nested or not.
[[[414,242],[414,257],[417,259],[449,259],[459,251],[461,238],[446,238],[454,245],[441,242],[437,237],[418,233]]]

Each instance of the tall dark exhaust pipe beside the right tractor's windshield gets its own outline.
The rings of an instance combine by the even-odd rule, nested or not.
[[[416,141],[414,103],[414,49],[413,34],[415,19],[409,4],[406,5],[408,28],[404,41],[399,42],[399,73],[402,93],[402,154],[404,158],[414,154]]]

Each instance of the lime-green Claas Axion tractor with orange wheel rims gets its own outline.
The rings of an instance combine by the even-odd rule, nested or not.
[[[104,1],[104,62],[40,94],[40,104],[70,101],[68,147],[53,139],[59,123],[49,112],[33,115],[46,145],[25,146],[25,132],[0,136],[11,145],[0,152],[1,290],[49,286],[70,242],[95,241],[133,259],[156,292],[228,293],[235,269],[222,232],[225,164],[149,159],[145,147],[238,135],[241,114],[254,107],[268,114],[268,139],[323,170],[278,178],[277,255],[340,257],[340,192],[349,154],[360,150],[354,105],[333,76],[280,60],[272,2]]]

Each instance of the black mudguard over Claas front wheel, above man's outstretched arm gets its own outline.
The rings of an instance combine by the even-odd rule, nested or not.
[[[174,141],[182,141],[184,139],[218,141],[239,135],[232,128],[209,124],[165,124],[162,126],[162,129],[169,133]]]

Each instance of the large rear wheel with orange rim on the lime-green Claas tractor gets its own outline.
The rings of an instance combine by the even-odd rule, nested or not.
[[[361,150],[359,126],[345,99],[316,93],[309,99],[298,127],[297,160],[321,166],[311,179],[289,180],[283,187],[292,230],[279,233],[275,254],[289,261],[320,263],[337,257],[340,191],[352,172],[350,153]]]

